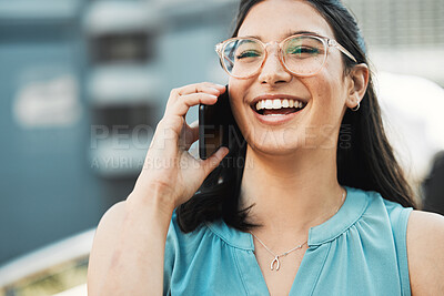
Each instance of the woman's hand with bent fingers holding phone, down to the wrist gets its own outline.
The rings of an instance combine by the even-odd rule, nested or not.
[[[188,125],[185,116],[193,105],[214,104],[223,92],[223,85],[209,82],[171,91],[165,113],[155,129],[143,170],[135,182],[132,200],[161,196],[159,205],[162,212],[172,213],[193,196],[228,151],[219,150],[206,161],[194,159],[188,149],[198,140],[199,127]]]

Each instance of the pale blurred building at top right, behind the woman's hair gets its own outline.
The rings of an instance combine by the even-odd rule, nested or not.
[[[444,86],[443,0],[344,0],[380,71],[427,78]]]

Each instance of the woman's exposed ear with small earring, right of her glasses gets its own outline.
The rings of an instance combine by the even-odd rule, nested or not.
[[[347,108],[355,108],[364,98],[365,91],[367,90],[369,75],[369,67],[365,63],[356,64],[350,71],[346,78],[349,88],[345,104]]]

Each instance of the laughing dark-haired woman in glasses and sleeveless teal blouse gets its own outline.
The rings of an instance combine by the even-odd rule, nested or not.
[[[444,220],[412,211],[350,13],[242,1],[233,35],[219,52],[246,165],[200,188],[228,150],[193,159],[184,115],[225,88],[173,90],[134,190],[100,222],[90,295],[442,294]]]

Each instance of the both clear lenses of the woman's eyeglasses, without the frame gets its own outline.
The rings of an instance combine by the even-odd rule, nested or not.
[[[314,37],[295,37],[282,47],[283,62],[293,73],[310,75],[317,72],[325,59],[325,44]],[[256,73],[265,57],[264,47],[252,39],[234,39],[225,44],[223,63],[229,73],[246,78]]]

